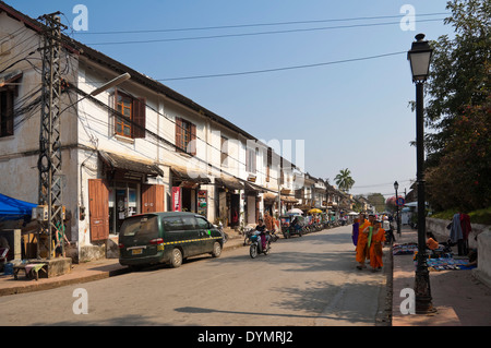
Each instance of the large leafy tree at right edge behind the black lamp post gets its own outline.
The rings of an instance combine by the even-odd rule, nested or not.
[[[491,2],[453,0],[455,28],[432,43],[426,136],[428,201],[435,209],[491,204]]]

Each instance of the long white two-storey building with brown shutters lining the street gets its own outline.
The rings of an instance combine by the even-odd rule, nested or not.
[[[39,52],[26,55],[43,45],[41,33],[37,21],[0,4],[0,77],[7,81],[0,92],[9,100],[0,192],[32,203],[38,202],[43,68]],[[295,203],[301,171],[265,142],[68,37],[61,64],[62,196],[75,260],[117,254],[122,220],[134,214],[189,211],[239,228]],[[127,72],[130,80],[88,95]]]

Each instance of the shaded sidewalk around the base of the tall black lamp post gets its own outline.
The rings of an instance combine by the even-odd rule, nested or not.
[[[395,238],[397,244],[418,242],[417,231],[406,226]],[[412,255],[393,255],[392,326],[491,326],[491,288],[477,280],[471,269],[430,271],[435,312],[402,314],[400,303],[406,296],[400,297],[400,290],[414,288],[415,269]]]

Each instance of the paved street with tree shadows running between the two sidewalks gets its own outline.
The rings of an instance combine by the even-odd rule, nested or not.
[[[374,325],[385,276],[355,268],[350,229],[280,239],[255,260],[240,248],[176,269],[1,297],[0,325]],[[77,288],[87,314],[74,314]]]

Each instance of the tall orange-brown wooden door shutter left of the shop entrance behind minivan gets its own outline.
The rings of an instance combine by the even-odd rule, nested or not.
[[[109,238],[109,190],[103,179],[88,179],[91,241]]]

